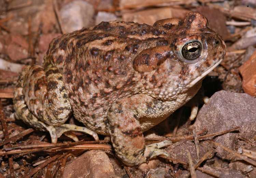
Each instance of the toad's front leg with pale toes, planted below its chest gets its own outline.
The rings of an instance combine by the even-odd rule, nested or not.
[[[139,119],[145,117],[150,96],[132,96],[115,102],[108,111],[111,141],[116,155],[128,166],[140,165],[158,155],[169,156],[162,149],[171,141],[162,141],[145,146]]]

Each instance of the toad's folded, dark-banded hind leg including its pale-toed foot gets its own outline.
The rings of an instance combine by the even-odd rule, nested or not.
[[[64,124],[72,112],[62,75],[49,65],[26,67],[14,91],[16,118],[39,130],[49,131],[53,143],[66,131],[81,131],[98,141],[97,133],[86,127]],[[73,140],[74,135],[67,134]]]

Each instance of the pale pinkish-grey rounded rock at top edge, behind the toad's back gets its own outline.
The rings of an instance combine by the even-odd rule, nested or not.
[[[60,22],[63,33],[88,28],[94,25],[94,7],[88,2],[75,0],[60,10]]]

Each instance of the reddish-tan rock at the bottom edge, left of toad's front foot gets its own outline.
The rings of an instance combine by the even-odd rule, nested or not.
[[[116,178],[114,167],[105,152],[90,150],[66,165],[64,178]]]

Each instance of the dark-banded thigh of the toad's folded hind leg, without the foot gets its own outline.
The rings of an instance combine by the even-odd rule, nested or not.
[[[28,66],[20,75],[15,92],[19,88],[27,108],[38,120],[58,126],[69,118],[72,109],[62,75],[55,67],[49,66],[44,71],[41,66]]]

